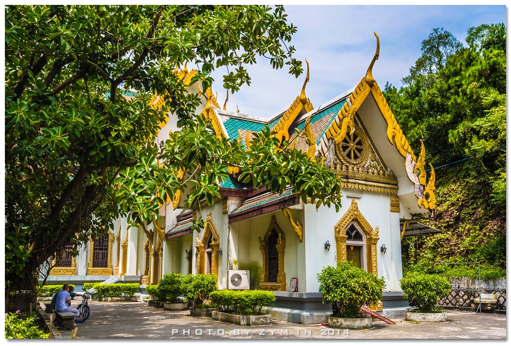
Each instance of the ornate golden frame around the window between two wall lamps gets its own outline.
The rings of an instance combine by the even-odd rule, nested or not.
[[[358,228],[365,234],[365,249],[366,249],[366,260],[367,260],[367,273],[372,273],[378,276],[378,258],[377,258],[377,242],[380,239],[378,237],[379,229],[373,230],[373,227],[369,225],[365,217],[358,209],[357,202],[352,200],[350,208],[341,217],[339,222],[335,225],[335,241],[337,249],[337,260],[346,260],[346,227],[352,222],[358,226]]]

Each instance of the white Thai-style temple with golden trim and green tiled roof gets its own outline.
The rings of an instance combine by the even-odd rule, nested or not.
[[[304,203],[292,188],[273,194],[265,188],[238,182],[239,168],[229,167],[229,179],[219,184],[221,199],[194,210],[183,209],[185,193],[160,208],[161,219],[140,229],[126,218],[102,239],[90,242],[77,258],[56,257],[48,282],[140,282],[156,284],[162,275],[212,273],[218,287],[228,288],[228,271],[240,263],[262,267],[258,289],[271,290],[277,301],[271,308],[277,319],[301,324],[326,322],[332,307],[321,303],[317,275],[324,266],[351,260],[368,273],[384,277],[379,304],[370,308],[387,317],[404,316],[401,241],[411,220],[427,217],[435,208],[435,174],[426,175],[425,146],[413,153],[372,75],[379,56],[360,82],[332,100],[316,106],[306,96],[307,77],[288,109],[260,118],[220,107],[211,89],[200,92],[197,113],[211,121],[217,136],[241,140],[249,149],[254,132],[268,126],[280,140],[335,170],[342,178],[342,207]],[[185,85],[197,73],[176,71]],[[363,72],[361,72],[361,75]],[[151,106],[158,107],[155,95]],[[158,141],[177,129],[169,114]],[[206,227],[192,231],[192,219]],[[413,221],[415,223],[415,221]],[[416,223],[415,223],[416,224]]]

